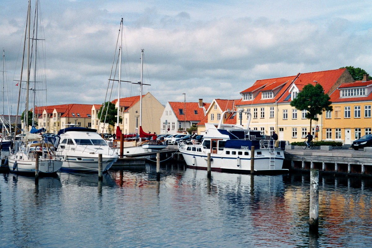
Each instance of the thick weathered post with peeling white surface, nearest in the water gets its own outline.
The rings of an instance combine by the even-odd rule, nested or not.
[[[319,212],[319,170],[310,170],[310,232],[318,232],[318,212]]]

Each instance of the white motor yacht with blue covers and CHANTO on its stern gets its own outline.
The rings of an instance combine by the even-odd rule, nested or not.
[[[240,111],[225,111],[240,113]],[[248,124],[250,121],[250,112]],[[178,144],[187,166],[196,169],[207,168],[207,156],[211,154],[211,170],[220,172],[250,173],[251,157],[254,156],[254,172],[277,174],[287,173],[283,169],[284,152],[267,143],[260,143],[260,131],[244,129],[242,125],[222,124],[222,118],[218,127],[206,123],[206,131],[201,143],[183,141]],[[256,139],[257,136],[257,139]],[[263,141],[263,140],[262,140]],[[251,154],[251,146],[254,146],[254,155]]]

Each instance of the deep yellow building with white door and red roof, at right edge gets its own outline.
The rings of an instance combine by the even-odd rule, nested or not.
[[[372,81],[341,84],[331,95],[333,111],[324,113],[323,140],[352,141],[372,133]]]

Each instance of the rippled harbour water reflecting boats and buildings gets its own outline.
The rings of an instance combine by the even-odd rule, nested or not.
[[[307,175],[161,169],[0,174],[0,247],[372,247],[370,180],[321,177],[313,236]]]

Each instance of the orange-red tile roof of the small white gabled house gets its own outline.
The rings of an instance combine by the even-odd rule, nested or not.
[[[204,118],[204,110],[203,108],[199,108],[199,102],[169,102],[169,105],[180,121],[200,121]],[[183,110],[184,114],[180,114],[180,109]],[[195,114],[194,110],[196,110],[198,114]]]

